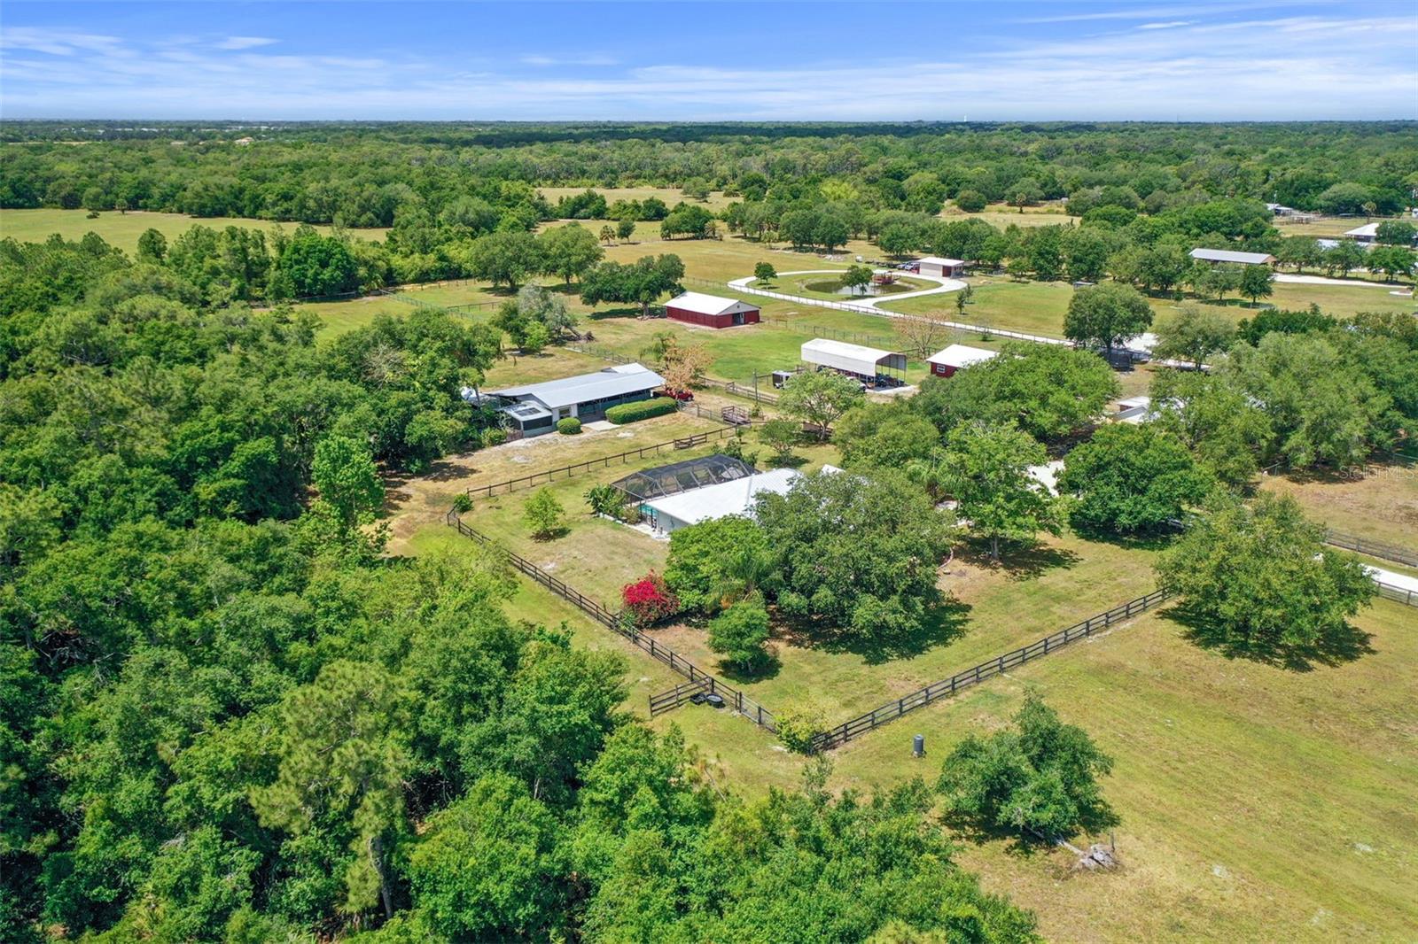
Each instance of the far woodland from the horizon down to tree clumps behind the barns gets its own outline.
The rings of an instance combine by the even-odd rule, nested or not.
[[[139,139],[119,130],[118,140],[91,129],[102,139],[81,143],[68,126],[7,128],[24,140],[0,149],[0,207],[389,228],[383,240],[339,245],[309,231],[267,240],[203,227],[167,247],[153,232],[145,255],[213,303],[445,278],[580,276],[598,258],[597,234],[580,230],[576,251],[549,245],[553,237],[533,241],[530,231],[553,218],[620,221],[621,238],[635,221],[659,223],[662,238],[726,228],[827,251],[866,238],[888,255],[929,251],[1021,276],[1112,275],[1146,291],[1190,285],[1224,296],[1238,274],[1193,265],[1193,247],[1272,252],[1340,275],[1366,264],[1347,242],[1322,251],[1310,237],[1282,237],[1266,201],[1394,214],[1418,190],[1411,123],[902,126],[858,136],[828,133],[834,126],[800,136],[787,136],[797,126],[160,126]],[[254,140],[235,145],[237,135]],[[587,190],[553,204],[536,187],[556,183]],[[679,186],[691,200],[607,201],[593,190],[630,184]],[[718,214],[693,201],[716,189],[735,198]],[[1064,198],[1082,225],[1001,228],[936,215],[947,201],[976,211]],[[1383,241],[1394,247],[1370,268],[1401,278],[1412,228],[1387,225]]]

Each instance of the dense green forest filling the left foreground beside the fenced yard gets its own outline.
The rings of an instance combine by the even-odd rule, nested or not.
[[[4,940],[1034,940],[920,782],[739,799],[496,556],[381,553],[485,329],[316,344],[94,237],[0,278]]]

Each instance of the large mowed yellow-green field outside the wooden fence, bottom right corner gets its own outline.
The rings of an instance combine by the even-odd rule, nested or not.
[[[1378,601],[1374,652],[1312,672],[1228,661],[1149,615],[837,751],[838,785],[934,777],[967,733],[1039,690],[1112,754],[1116,873],[967,846],[986,887],[1051,940],[1412,940],[1418,927],[1418,634]],[[910,757],[910,736],[927,757]]]

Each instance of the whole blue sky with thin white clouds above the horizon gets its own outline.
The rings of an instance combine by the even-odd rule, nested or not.
[[[24,3],[0,118],[1418,116],[1418,1]]]

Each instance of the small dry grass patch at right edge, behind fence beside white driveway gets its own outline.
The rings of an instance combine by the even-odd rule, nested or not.
[[[1418,465],[1374,465],[1353,478],[1266,475],[1261,488],[1295,496],[1306,515],[1336,532],[1418,551]]]

